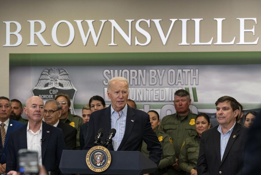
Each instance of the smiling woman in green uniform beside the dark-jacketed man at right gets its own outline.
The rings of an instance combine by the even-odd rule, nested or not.
[[[197,134],[185,139],[179,154],[178,164],[186,175],[197,175],[196,165],[201,133],[211,126],[209,116],[205,113],[198,114],[195,123]]]

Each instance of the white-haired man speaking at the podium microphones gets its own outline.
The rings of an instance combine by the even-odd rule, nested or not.
[[[94,138],[100,128],[104,129],[101,140],[108,138],[111,128],[116,129],[112,143],[107,149],[111,151],[140,151],[142,140],[150,151],[149,159],[157,165],[161,159],[162,148],[158,137],[152,130],[149,115],[127,104],[129,84],[123,77],[114,77],[108,82],[108,98],[111,105],[91,114],[86,145],[83,150],[94,146]]]

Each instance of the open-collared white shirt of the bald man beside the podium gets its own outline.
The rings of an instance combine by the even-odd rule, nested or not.
[[[26,130],[26,138],[27,138],[27,150],[37,151],[38,153],[38,163],[42,165],[42,149],[41,149],[41,139],[42,139],[42,129],[43,122],[40,126],[40,129],[34,133],[32,130],[29,129],[29,122],[27,124]]]

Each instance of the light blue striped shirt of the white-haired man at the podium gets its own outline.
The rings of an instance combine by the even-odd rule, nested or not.
[[[120,115],[119,115],[120,114]],[[116,130],[115,136],[112,138],[113,149],[118,150],[120,143],[122,141],[127,117],[127,104],[119,113],[116,112],[111,105],[111,128]]]

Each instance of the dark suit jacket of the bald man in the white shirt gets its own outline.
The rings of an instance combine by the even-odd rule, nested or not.
[[[27,149],[26,129],[27,125],[10,134],[6,172],[10,170],[19,171],[18,150]],[[43,122],[42,139],[44,140],[41,142],[42,164],[46,171],[59,171],[61,155],[63,150],[66,149],[62,130]]]

